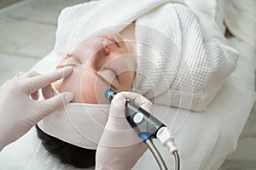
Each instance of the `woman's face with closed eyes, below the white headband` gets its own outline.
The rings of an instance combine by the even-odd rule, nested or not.
[[[57,69],[71,65],[73,72],[54,86],[59,92],[72,92],[73,102],[107,103],[104,93],[108,88],[117,92],[132,88],[136,62],[131,42],[125,42],[118,32],[103,31],[67,51]]]

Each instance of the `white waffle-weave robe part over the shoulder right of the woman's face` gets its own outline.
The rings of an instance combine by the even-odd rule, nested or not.
[[[189,8],[166,4],[137,19],[133,88],[155,104],[203,111],[236,68],[237,54],[203,41]]]

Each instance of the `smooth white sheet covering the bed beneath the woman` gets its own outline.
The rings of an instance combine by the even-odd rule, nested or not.
[[[181,156],[182,169],[218,169],[224,158],[236,150],[237,139],[247,121],[247,116],[255,100],[254,71],[256,56],[246,44],[230,40],[240,53],[236,71],[224,83],[224,87],[212,104],[203,113],[190,113],[183,127],[176,131],[187,116],[187,111],[156,106],[157,116],[165,122],[172,122],[178,112],[177,121],[172,126]],[[59,61],[54,53],[42,59],[34,69],[42,73],[54,68]],[[169,112],[167,117],[162,114]],[[173,157],[160,147],[162,156],[173,167]],[[36,137],[35,129],[0,152],[0,167],[4,169],[76,169],[62,165],[49,156]],[[87,168],[93,169],[93,168]],[[133,169],[158,169],[150,152],[147,151]]]

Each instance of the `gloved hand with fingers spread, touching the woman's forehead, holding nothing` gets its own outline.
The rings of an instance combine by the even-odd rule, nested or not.
[[[71,93],[52,97],[53,90],[50,85],[51,82],[67,77],[72,71],[72,67],[45,75],[29,71],[16,75],[0,87],[0,150],[73,99]],[[34,100],[38,99],[39,88],[42,88],[45,100]]]

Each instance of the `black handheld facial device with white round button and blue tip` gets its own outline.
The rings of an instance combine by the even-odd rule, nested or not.
[[[105,98],[111,103],[115,94],[117,93],[112,89],[108,89],[105,93]],[[160,127],[166,127],[164,123],[160,122],[148,111],[145,111],[128,99],[125,104],[125,116],[137,135],[143,139],[143,142],[148,138],[156,138],[156,133]]]

